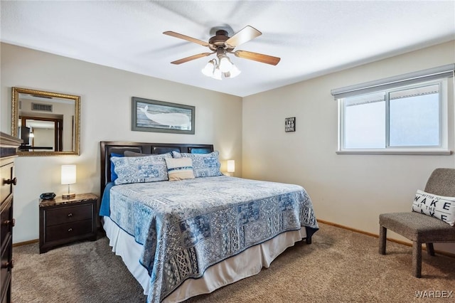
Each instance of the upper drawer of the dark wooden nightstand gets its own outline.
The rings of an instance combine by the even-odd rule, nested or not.
[[[92,220],[92,204],[48,209],[45,212],[46,226],[70,223],[80,220]]]

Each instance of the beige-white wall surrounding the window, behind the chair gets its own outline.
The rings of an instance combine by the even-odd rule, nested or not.
[[[242,176],[304,186],[317,218],[378,234],[379,214],[410,211],[433,169],[454,168],[455,157],[336,154],[331,90],[449,63],[455,63],[455,41],[244,97]],[[296,132],[284,132],[286,117],[296,117]],[[453,91],[449,147],[454,150]]]

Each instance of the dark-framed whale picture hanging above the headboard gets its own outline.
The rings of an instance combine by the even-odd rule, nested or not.
[[[194,134],[196,107],[132,97],[132,130]]]

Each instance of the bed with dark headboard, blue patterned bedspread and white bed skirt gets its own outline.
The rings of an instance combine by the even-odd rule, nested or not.
[[[224,176],[212,144],[100,142],[100,151],[102,226],[147,302],[256,275],[319,228],[304,188]]]

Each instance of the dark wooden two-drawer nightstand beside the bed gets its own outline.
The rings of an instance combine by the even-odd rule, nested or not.
[[[40,199],[40,253],[77,240],[97,240],[97,201],[93,193]]]

